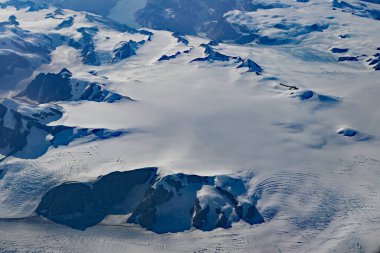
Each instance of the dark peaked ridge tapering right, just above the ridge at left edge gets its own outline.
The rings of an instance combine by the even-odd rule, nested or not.
[[[40,104],[76,100],[108,103],[122,99],[131,100],[105,90],[98,83],[75,81],[71,77],[72,73],[67,69],[62,69],[57,74],[41,73],[16,97],[25,97]]]

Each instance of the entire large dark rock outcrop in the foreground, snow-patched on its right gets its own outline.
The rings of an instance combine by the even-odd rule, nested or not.
[[[129,215],[126,222],[156,233],[229,228],[244,220],[264,222],[246,196],[242,180],[173,174],[157,168],[113,172],[94,182],[64,183],[51,189],[36,213],[56,223],[85,230],[108,215]],[[246,198],[245,200],[243,200]]]

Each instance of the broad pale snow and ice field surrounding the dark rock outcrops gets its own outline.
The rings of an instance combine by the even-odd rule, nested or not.
[[[49,126],[133,131],[50,147],[37,159],[2,161],[0,252],[375,252],[380,246],[380,78],[367,60],[380,52],[380,23],[333,10],[329,1],[283,2],[292,7],[245,13],[252,19],[235,17],[234,22],[253,22],[247,25],[259,26],[263,36],[290,34],[288,43],[213,46],[221,54],[254,60],[262,75],[237,69],[234,60],[190,63],[205,57],[200,45],[206,39],[187,36],[185,45],[170,32],[151,30],[148,40],[148,35],[91,23],[84,13],[67,10],[59,19],[45,19],[55,8],[0,9],[1,21],[15,15],[33,38],[46,34],[57,40],[51,62],[36,64],[33,77],[18,89],[41,72],[68,68],[76,79],[105,83],[135,100],[52,103],[64,115]],[[71,16],[72,26],[56,30]],[[292,32],[273,28],[277,19],[293,24]],[[299,34],[299,27],[315,23],[328,28]],[[93,40],[100,66],[83,64],[80,50],[58,41],[59,35],[79,40],[77,29],[93,26],[99,28]],[[129,40],[146,42],[137,55],[112,64],[114,46]],[[349,51],[334,54],[332,48]],[[185,51],[158,62],[162,55]],[[341,56],[358,56],[358,61],[338,62]],[[17,72],[4,80],[19,81]],[[17,93],[4,91],[3,97]],[[31,114],[24,105],[28,101],[16,101],[17,110]],[[3,123],[14,125],[9,115]],[[33,139],[38,134],[17,157],[38,147]],[[60,183],[147,166],[159,167],[162,175],[241,178],[265,223],[157,235],[125,225],[125,217],[118,216],[85,232],[30,218],[43,195]]]

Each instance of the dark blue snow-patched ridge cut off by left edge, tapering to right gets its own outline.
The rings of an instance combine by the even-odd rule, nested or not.
[[[9,106],[4,102],[0,103],[0,154],[5,157],[35,159],[46,153],[49,147],[66,146],[80,138],[98,140],[127,133],[107,129],[48,126],[50,122],[62,117],[60,110],[36,107],[32,108],[35,111],[33,114],[27,115],[17,111],[15,102],[12,104]],[[25,149],[27,151],[23,152]]]

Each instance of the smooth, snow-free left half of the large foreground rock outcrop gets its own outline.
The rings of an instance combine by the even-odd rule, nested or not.
[[[36,213],[60,224],[84,230],[108,214],[130,212],[143,198],[157,168],[114,172],[91,184],[67,183],[50,190]],[[124,203],[127,203],[123,205]]]

